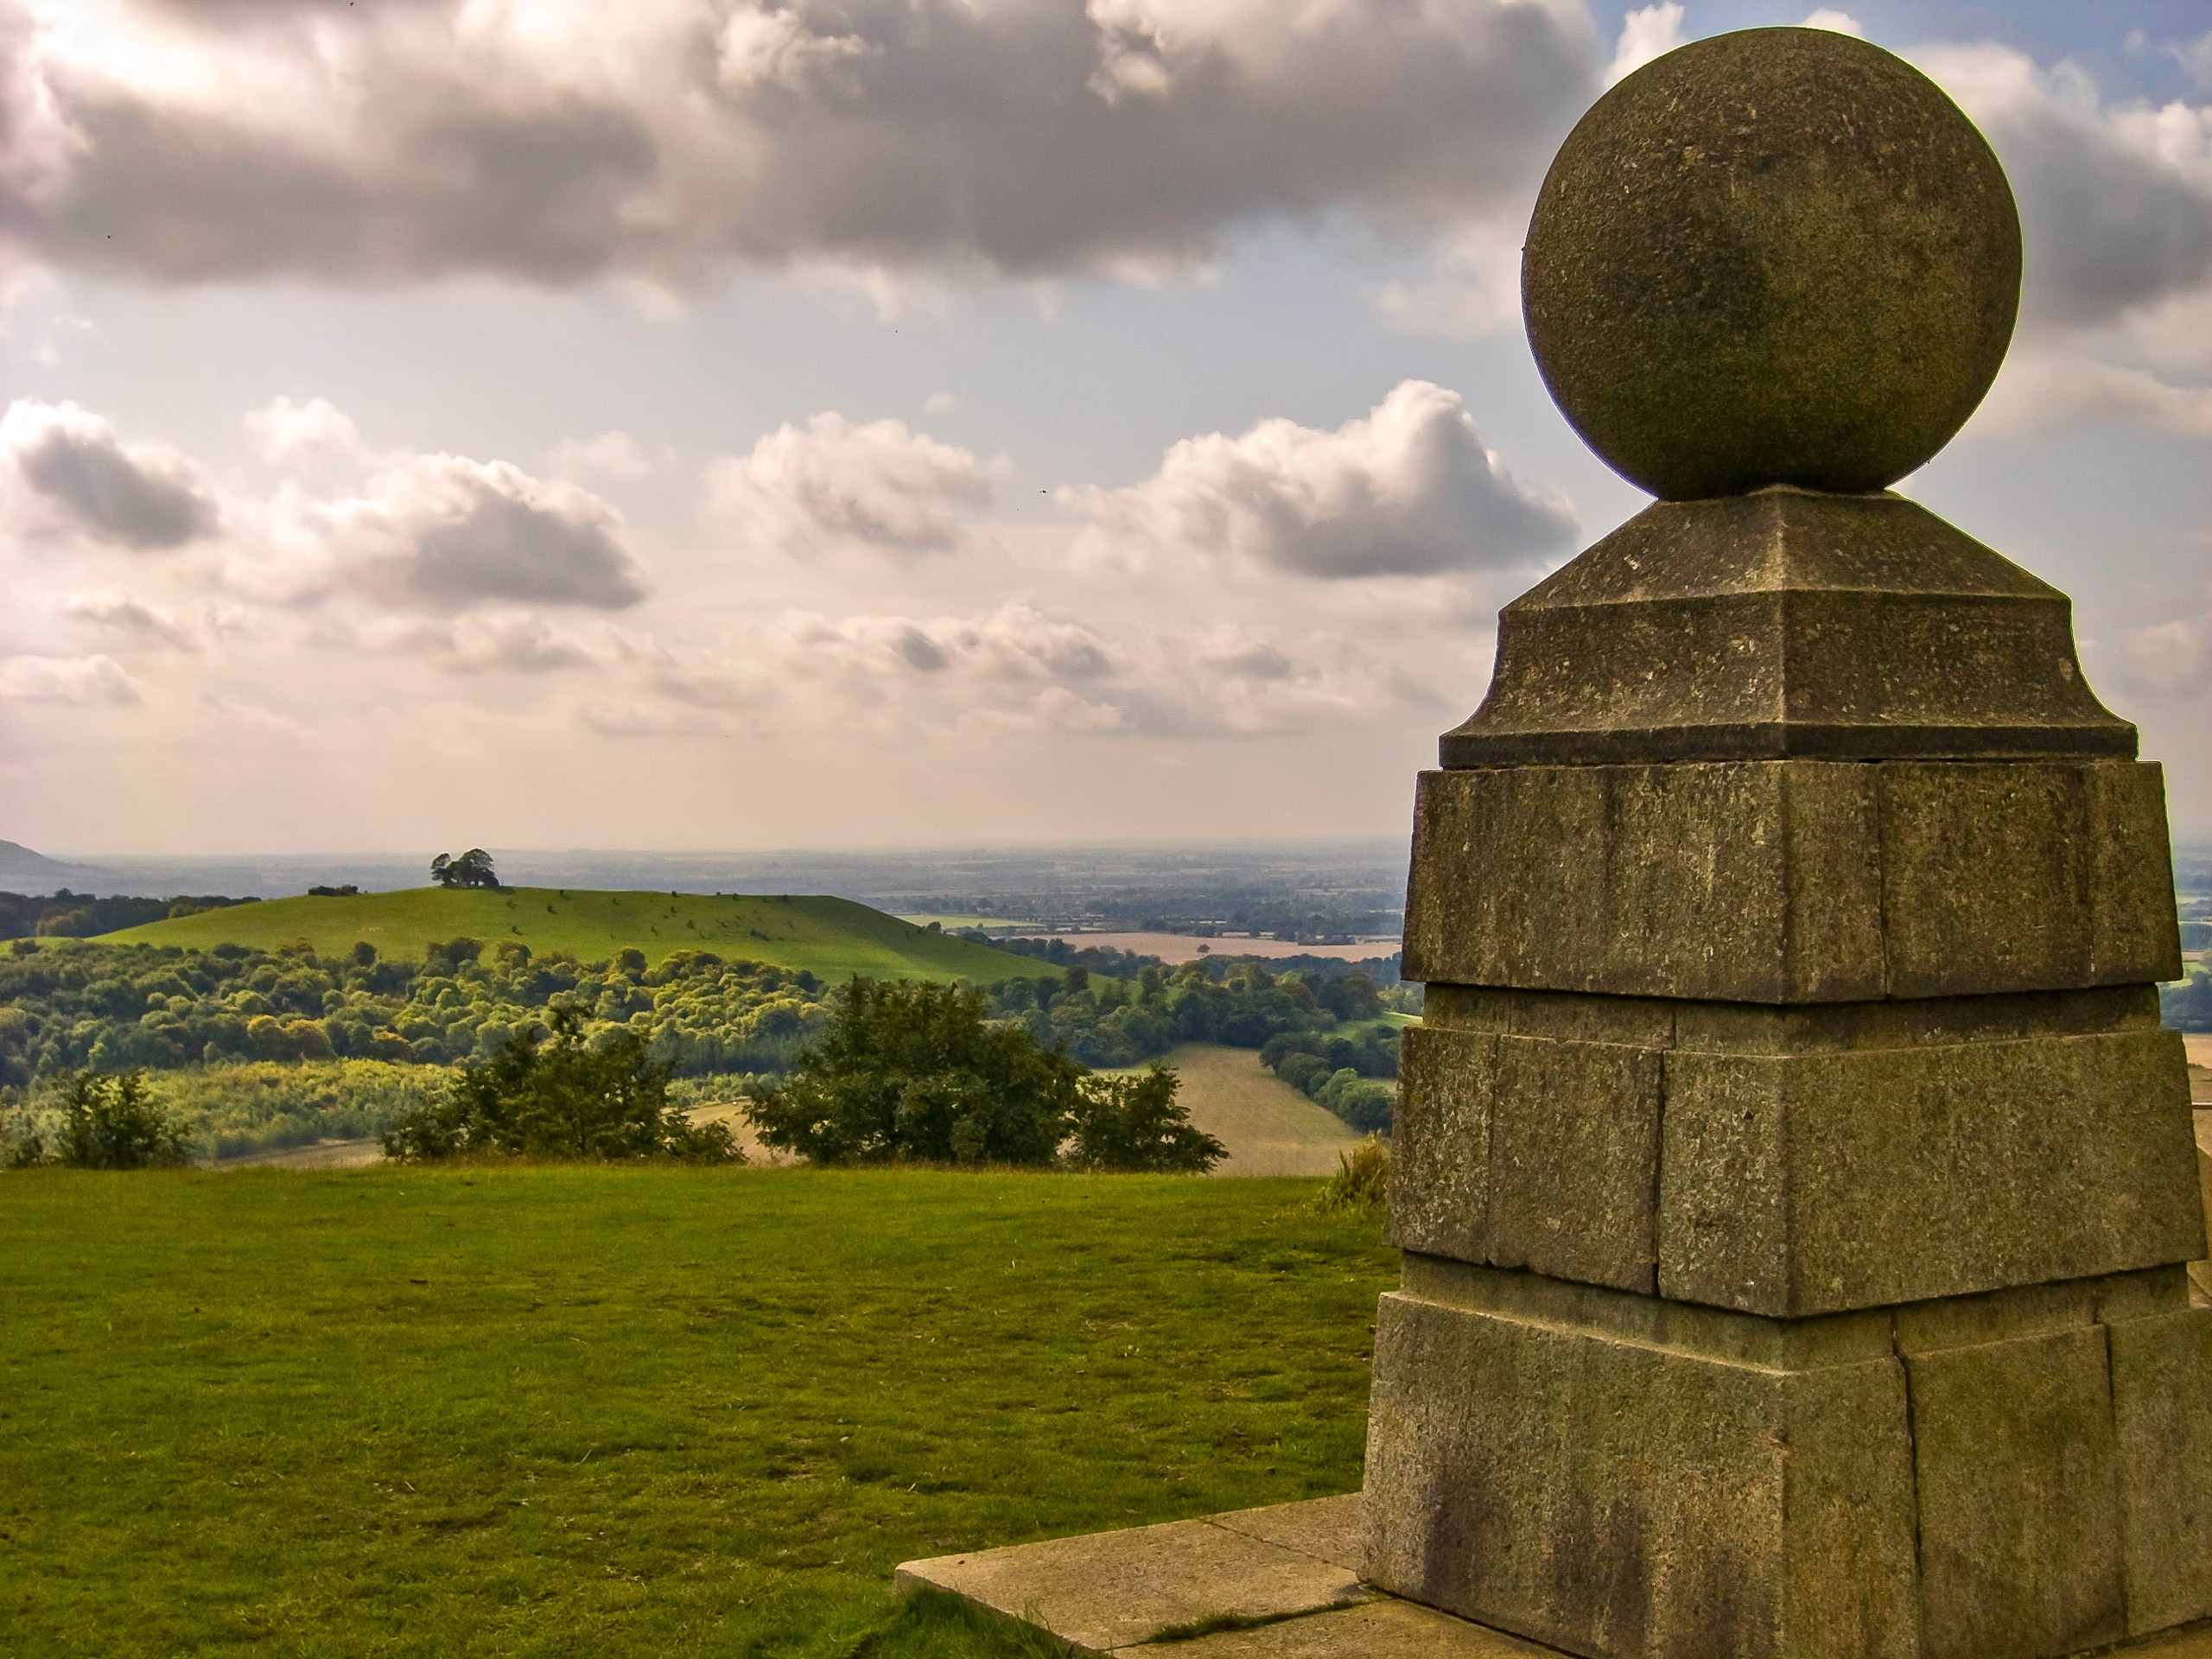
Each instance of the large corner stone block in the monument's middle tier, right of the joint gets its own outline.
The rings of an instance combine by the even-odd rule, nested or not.
[[[1666,1296],[1820,1314],[2203,1254],[2170,1031],[1668,1053]]]

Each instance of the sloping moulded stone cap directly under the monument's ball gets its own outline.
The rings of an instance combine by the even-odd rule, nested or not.
[[[1440,757],[2130,759],[2070,613],[1902,495],[1657,502],[1500,613],[1491,688]]]

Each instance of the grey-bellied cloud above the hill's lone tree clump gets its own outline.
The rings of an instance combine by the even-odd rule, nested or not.
[[[593,504],[544,504],[471,480],[460,511],[416,531],[407,588],[434,604],[482,599],[619,611],[644,588],[613,522]]]

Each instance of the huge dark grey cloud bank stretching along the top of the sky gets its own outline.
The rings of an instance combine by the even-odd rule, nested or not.
[[[1599,58],[1579,0],[11,15],[0,234],[173,283],[1190,270],[1248,226],[1478,217]]]

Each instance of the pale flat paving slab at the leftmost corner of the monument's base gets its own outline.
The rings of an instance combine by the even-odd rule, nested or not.
[[[898,1582],[1035,1619],[1075,1652],[1110,1652],[1219,1615],[1267,1619],[1367,1597],[1345,1564],[1267,1542],[1250,1524],[1208,1520],[905,1562]]]

